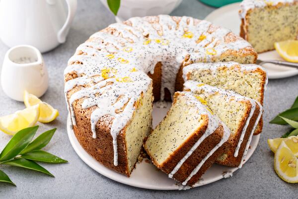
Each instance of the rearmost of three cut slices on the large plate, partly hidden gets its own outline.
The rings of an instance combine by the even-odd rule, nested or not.
[[[255,64],[236,62],[196,63],[183,68],[184,81],[194,80],[258,101],[263,105],[264,91],[268,82],[266,71]],[[254,134],[262,132],[263,119]]]

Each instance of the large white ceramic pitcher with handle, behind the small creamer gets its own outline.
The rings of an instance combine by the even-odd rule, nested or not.
[[[32,45],[41,52],[64,43],[76,0],[0,0],[0,38],[9,47]]]

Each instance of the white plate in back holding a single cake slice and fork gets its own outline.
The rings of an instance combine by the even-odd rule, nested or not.
[[[240,3],[228,4],[214,10],[205,19],[216,25],[228,28],[236,35],[239,35],[241,23],[238,15],[239,8]],[[258,54],[258,59],[283,60],[283,58],[281,58],[275,50]],[[279,66],[275,64],[264,64],[263,67],[267,70],[269,79],[287,78],[298,75],[298,69],[291,67]]]

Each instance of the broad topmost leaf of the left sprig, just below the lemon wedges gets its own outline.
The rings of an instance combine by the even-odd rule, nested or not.
[[[5,146],[0,154],[0,162],[10,160],[18,155],[31,142],[38,126],[24,128],[18,131]]]

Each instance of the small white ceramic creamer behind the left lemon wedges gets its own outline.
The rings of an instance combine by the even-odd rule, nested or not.
[[[1,71],[1,86],[9,98],[23,101],[24,91],[39,98],[47,91],[48,85],[48,71],[37,48],[19,45],[6,52]]]

